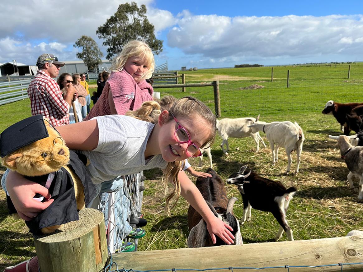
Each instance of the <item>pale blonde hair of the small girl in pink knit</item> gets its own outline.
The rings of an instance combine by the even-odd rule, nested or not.
[[[129,41],[122,49],[121,53],[112,61],[110,70],[113,72],[122,71],[128,58],[138,57],[147,63],[147,72],[142,75],[142,79],[151,78],[155,69],[155,59],[150,46],[143,41]]]

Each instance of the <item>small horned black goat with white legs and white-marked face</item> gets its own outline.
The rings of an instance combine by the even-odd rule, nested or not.
[[[249,170],[244,174],[247,166],[237,172],[233,173],[227,179],[228,184],[235,184],[238,186],[243,199],[243,217],[240,220],[241,224],[250,221],[251,207],[260,211],[269,211],[276,218],[280,224],[275,240],[281,238],[282,233],[285,231],[287,239],[293,241],[293,231],[286,221],[286,210],[289,207],[289,202],[296,192],[295,187],[286,189],[280,181],[269,180],[258,176],[258,174]]]

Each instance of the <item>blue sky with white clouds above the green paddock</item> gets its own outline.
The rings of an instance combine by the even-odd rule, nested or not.
[[[99,44],[98,26],[125,1],[50,0],[0,3],[0,63],[35,64],[38,55],[77,60],[74,42],[83,34]],[[283,65],[363,61],[361,1],[160,1],[137,0],[148,9],[164,41],[156,65],[233,67],[242,63]],[[49,11],[52,11],[49,13]],[[42,16],[44,15],[44,16]]]

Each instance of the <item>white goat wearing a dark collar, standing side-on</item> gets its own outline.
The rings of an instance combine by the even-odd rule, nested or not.
[[[278,160],[278,148],[285,148],[288,160],[286,173],[289,173],[291,168],[291,152],[296,150],[296,173],[299,173],[300,155],[305,137],[298,123],[291,123],[290,121],[272,123],[256,121],[254,124],[249,125],[249,128],[252,128],[252,132],[262,131],[266,133],[272,151],[273,165]]]

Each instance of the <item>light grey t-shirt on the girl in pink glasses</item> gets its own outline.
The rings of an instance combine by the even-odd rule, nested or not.
[[[98,116],[98,145],[82,151],[90,160],[87,169],[93,183],[139,173],[150,168],[165,169],[161,154],[145,161],[144,152],[154,124],[125,115]]]

